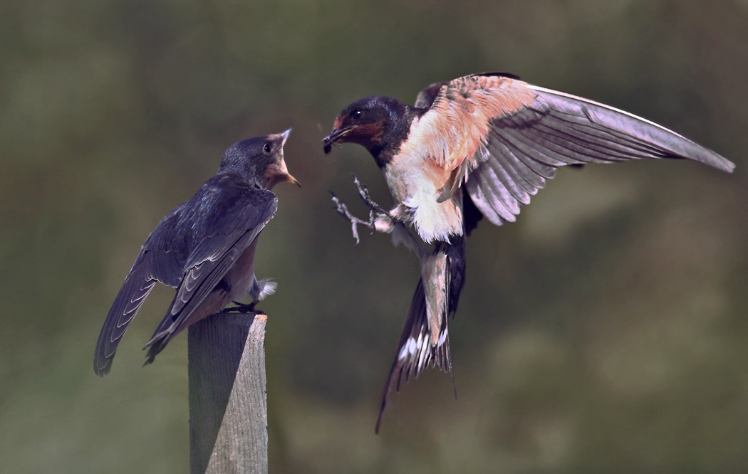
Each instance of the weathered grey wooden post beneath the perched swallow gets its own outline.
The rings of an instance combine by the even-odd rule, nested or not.
[[[224,313],[188,329],[190,473],[267,473],[267,316]]]

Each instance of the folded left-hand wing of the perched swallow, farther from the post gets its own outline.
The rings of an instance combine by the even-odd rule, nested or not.
[[[156,226],[141,247],[120,292],[114,298],[99,341],[96,342],[93,356],[93,372],[96,375],[103,377],[109,373],[117,345],[156,282],[177,287],[182,281],[184,256],[174,245],[174,228],[184,206],[184,203],[178,206]]]

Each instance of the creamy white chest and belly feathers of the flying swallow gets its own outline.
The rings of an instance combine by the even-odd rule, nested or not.
[[[449,178],[444,167],[428,157],[400,154],[384,168],[384,177],[396,203],[412,210],[413,225],[420,238],[432,243],[462,236],[462,192],[438,202]]]

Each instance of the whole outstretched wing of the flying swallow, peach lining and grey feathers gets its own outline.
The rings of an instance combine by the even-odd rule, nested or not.
[[[649,120],[512,76],[465,76],[435,94],[429,87],[419,94],[424,105],[433,96],[422,120],[423,133],[434,135],[429,156],[441,157],[438,163],[451,173],[446,190],[466,182],[471,200],[494,224],[515,221],[530,196],[568,164],[685,158],[735,168]]]

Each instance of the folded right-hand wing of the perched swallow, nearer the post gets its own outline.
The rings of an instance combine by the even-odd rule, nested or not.
[[[229,302],[211,293],[218,289],[225,297],[230,292],[228,287],[221,287],[221,280],[278,210],[278,197],[271,191],[257,191],[245,185],[221,185],[214,191],[218,194],[193,198],[197,210],[189,222],[193,229],[202,232],[194,237],[177,295],[146,345],[150,347],[147,362],[153,361],[167,342],[196,318],[215,313]],[[206,306],[200,307],[203,303]]]

